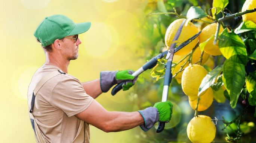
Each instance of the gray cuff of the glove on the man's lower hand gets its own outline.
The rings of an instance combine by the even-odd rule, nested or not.
[[[159,113],[155,107],[148,107],[144,110],[139,110],[138,112],[144,119],[144,124],[140,125],[141,129],[144,131],[148,131],[157,121],[159,121]]]

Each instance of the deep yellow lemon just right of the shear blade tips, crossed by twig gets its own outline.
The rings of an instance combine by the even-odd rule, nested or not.
[[[211,36],[215,35],[216,28],[217,28],[216,23],[212,23],[212,24],[204,27],[204,29],[202,30],[202,32],[199,35],[199,42],[203,43],[204,41],[209,39]],[[222,31],[223,31],[223,28],[222,28],[222,26],[220,26],[219,33],[221,33]],[[213,40],[214,40],[214,38],[209,40],[209,42],[204,47],[204,51],[213,56],[222,55],[222,53],[219,50],[218,42],[216,43],[216,45],[213,45]]]

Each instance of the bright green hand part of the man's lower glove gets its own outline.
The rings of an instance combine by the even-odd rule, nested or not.
[[[158,110],[160,122],[168,123],[171,120],[173,105],[170,101],[157,102],[154,107]]]

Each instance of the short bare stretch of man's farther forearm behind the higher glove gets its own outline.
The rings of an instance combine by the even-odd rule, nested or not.
[[[86,93],[94,99],[97,98],[102,93],[100,79],[83,82],[82,85]]]

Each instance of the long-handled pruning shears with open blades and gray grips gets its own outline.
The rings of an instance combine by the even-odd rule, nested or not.
[[[181,31],[182,31],[182,28],[183,28],[183,25],[185,24],[185,22],[186,22],[186,20],[183,20],[182,24],[179,26],[179,28],[175,34],[175,37],[173,38],[173,42],[167,51],[164,51],[164,52],[158,54],[157,56],[155,56],[154,58],[150,59],[148,62],[146,62],[146,64],[144,64],[141,68],[139,68],[137,71],[135,71],[132,74],[134,77],[137,77],[138,75],[140,75],[142,72],[146,71],[147,69],[153,68],[157,64],[157,60],[163,58],[166,55],[165,59],[167,59],[167,63],[165,64],[166,70],[165,70],[165,75],[164,75],[164,88],[163,88],[163,94],[162,94],[162,102],[167,101],[169,85],[172,81],[171,68],[172,68],[172,60],[173,60],[174,53],[179,51],[184,46],[188,45],[188,43],[190,43],[192,40],[197,38],[199,36],[199,34],[201,33],[201,31],[198,32],[197,34],[195,34],[194,36],[192,36],[191,38],[189,38],[188,40],[183,42],[181,45],[179,45],[177,48],[175,48],[175,46],[176,46],[175,41],[178,40],[179,36],[181,35]],[[122,89],[122,85],[124,83],[125,83],[125,81],[117,84],[112,89],[111,94],[115,95],[118,91],[120,91]],[[157,133],[160,133],[161,131],[164,130],[165,123],[166,122],[158,122]]]

